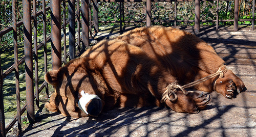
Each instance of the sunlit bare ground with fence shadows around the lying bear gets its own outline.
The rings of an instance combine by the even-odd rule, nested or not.
[[[180,29],[193,32],[191,28]],[[119,35],[114,29],[108,30],[109,35],[99,33],[95,38]],[[214,27],[205,27],[197,35],[214,47],[227,67],[244,81],[247,90],[237,98],[230,100],[211,93],[207,109],[198,114],[175,113],[164,107],[116,108],[98,118],[79,119],[49,113],[42,106],[36,113],[37,122],[20,136],[255,136],[255,31],[250,28],[216,31]]]

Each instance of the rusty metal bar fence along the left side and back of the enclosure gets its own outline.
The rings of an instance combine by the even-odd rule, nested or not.
[[[89,0],[51,0],[50,6],[46,6],[46,1],[42,0],[42,9],[38,10],[37,4],[38,1],[33,0],[31,8],[31,1],[24,0],[23,1],[23,20],[17,21],[17,1],[12,1],[12,20],[13,25],[3,29],[0,32],[0,37],[5,37],[6,34],[13,34],[13,48],[14,48],[14,64],[9,67],[7,70],[3,71],[1,68],[1,58],[0,58],[0,128],[1,128],[1,136],[6,136],[6,133],[11,129],[11,127],[17,122],[19,132],[22,131],[22,120],[21,115],[27,110],[27,118],[30,123],[35,121],[35,108],[34,104],[39,107],[39,93],[45,89],[47,97],[49,97],[49,89],[47,83],[44,81],[41,85],[38,83],[38,50],[43,50],[44,54],[44,73],[48,71],[48,54],[51,54],[52,59],[52,69],[58,69],[61,67],[63,63],[67,63],[67,58],[70,59],[76,58],[76,51],[81,51],[82,48],[89,46],[89,31],[91,28],[91,24],[94,24],[94,31],[99,32],[99,20],[98,20],[98,10],[97,3],[98,2],[119,2],[120,3],[120,19],[119,21],[101,21],[101,22],[120,22],[120,30],[122,31],[122,23],[127,22],[145,22],[146,26],[150,26],[152,23],[152,12],[151,12],[151,3],[152,2],[173,2],[175,6],[175,19],[174,20],[154,20],[158,22],[174,22],[176,27],[176,22],[179,21],[187,21],[187,22],[195,22],[195,32],[199,32],[200,30],[200,22],[213,21],[217,22],[216,28],[218,29],[219,21],[233,21],[234,22],[234,31],[238,30],[238,2],[239,0],[234,0],[234,19],[231,20],[219,20],[218,18],[218,10],[217,10],[217,19],[216,20],[200,20],[200,0],[195,0],[195,20],[177,20],[176,18],[176,6],[177,2],[188,2],[194,0],[93,0],[90,2]],[[203,0],[208,1],[208,0]],[[217,1],[217,5],[219,0]],[[67,4],[68,2],[68,4]],[[124,12],[123,12],[123,4],[126,2],[146,2],[146,20],[124,20]],[[81,5],[81,6],[79,6]],[[90,5],[93,7],[93,21],[90,17],[89,10]],[[62,6],[62,8],[61,8]],[[66,7],[68,6],[68,18],[66,17]],[[75,8],[76,7],[76,8]],[[252,29],[254,29],[254,7],[255,0],[253,0],[253,9],[252,9],[252,19],[247,19],[251,21]],[[76,10],[77,9],[77,10]],[[217,7],[218,9],[218,7]],[[32,12],[33,10],[33,12]],[[46,12],[51,12],[51,34],[47,36],[46,34],[46,23],[47,23],[47,15]],[[61,14],[61,12],[63,12]],[[41,20],[43,23],[43,40],[37,41],[37,32],[41,30],[37,30],[37,17],[42,16]],[[240,20],[246,21],[246,20]],[[76,25],[77,23],[77,30]],[[32,25],[33,24],[33,25]],[[66,52],[67,45],[67,33],[66,27],[69,27],[69,53]],[[17,28],[23,26],[24,28],[24,56],[18,59],[18,43],[17,43]],[[32,33],[33,28],[33,33]],[[75,38],[75,33],[78,33],[78,38]],[[63,33],[63,37],[61,38],[61,30]],[[33,34],[33,36],[32,36]],[[63,43],[61,43],[61,39],[63,39]],[[51,53],[47,53],[47,43],[51,42]],[[63,47],[63,59],[62,59],[62,51],[61,47]],[[77,48],[77,50],[76,50]],[[34,62],[34,64],[33,64]],[[26,104],[24,106],[20,106],[20,87],[19,87],[19,65],[25,63],[25,72],[26,72]],[[34,68],[34,69],[33,69]],[[13,120],[5,126],[5,113],[4,113],[4,96],[3,96],[3,83],[5,78],[11,73],[15,72],[15,89],[16,89],[16,105],[17,105],[17,114],[13,117]],[[34,92],[35,90],[35,92]]]

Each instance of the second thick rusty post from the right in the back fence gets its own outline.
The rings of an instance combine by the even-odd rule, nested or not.
[[[200,31],[200,0],[196,0],[195,5],[195,33],[199,33]]]

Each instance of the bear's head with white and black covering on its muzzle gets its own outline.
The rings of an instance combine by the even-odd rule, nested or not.
[[[104,105],[101,100],[103,93],[99,90],[98,79],[92,76],[93,72],[88,71],[84,62],[82,59],[75,59],[58,70],[45,74],[46,82],[53,86],[57,96],[50,98],[50,103],[54,100],[52,102],[60,112],[62,109],[69,113],[82,111],[90,116],[98,116]],[[60,109],[59,103],[63,102],[63,98],[66,99],[65,106],[62,105]]]

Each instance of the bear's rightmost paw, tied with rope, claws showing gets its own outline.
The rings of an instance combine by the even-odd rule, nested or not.
[[[216,81],[216,91],[229,99],[234,98],[245,89],[243,81],[231,70],[228,70],[223,78],[218,78]]]

